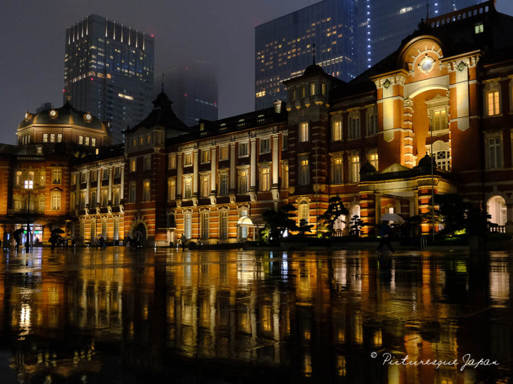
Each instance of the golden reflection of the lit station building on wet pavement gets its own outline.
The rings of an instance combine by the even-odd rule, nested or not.
[[[69,359],[77,359],[75,368],[99,369],[105,362],[94,353],[102,351],[101,341],[122,342],[123,364],[141,371],[165,369],[175,356],[236,358],[248,369],[279,366],[292,376],[300,369],[300,376],[318,380],[379,382],[385,375],[389,382],[457,383],[467,382],[468,373],[379,364],[369,369],[367,356],[386,350],[449,360],[479,349],[507,360],[511,350],[510,309],[497,318],[474,315],[487,306],[482,296],[488,286],[492,303],[510,304],[511,263],[492,262],[488,278],[482,264],[465,259],[396,258],[390,271],[385,260],[367,255],[288,254],[285,270],[268,254],[249,259],[234,251],[136,253],[125,261],[116,254],[82,255],[77,271],[2,275],[1,324],[8,328],[1,332],[16,336],[18,370],[30,364],[43,371],[47,363],[58,368]],[[62,265],[65,257],[43,257],[41,266]],[[454,320],[459,316],[462,322]],[[476,326],[491,333],[473,339]],[[56,331],[62,329],[70,348],[60,347],[63,335]],[[44,349],[27,347],[34,336],[44,340]]]

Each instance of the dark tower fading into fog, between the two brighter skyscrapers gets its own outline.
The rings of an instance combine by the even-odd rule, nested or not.
[[[218,75],[211,63],[193,61],[164,71],[164,75],[164,91],[185,125],[218,119]]]

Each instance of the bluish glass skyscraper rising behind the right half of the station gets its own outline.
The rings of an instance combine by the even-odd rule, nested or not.
[[[255,27],[255,109],[285,99],[283,80],[315,61],[349,81],[380,61],[422,18],[484,0],[324,0]]]

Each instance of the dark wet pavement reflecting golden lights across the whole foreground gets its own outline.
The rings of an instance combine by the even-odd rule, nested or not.
[[[513,254],[0,255],[2,383],[513,382]]]

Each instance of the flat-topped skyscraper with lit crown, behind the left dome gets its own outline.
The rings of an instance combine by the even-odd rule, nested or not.
[[[71,104],[110,122],[114,143],[152,109],[154,39],[95,14],[66,30],[64,93]]]

